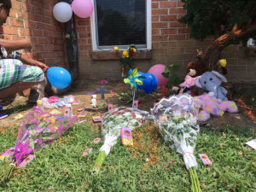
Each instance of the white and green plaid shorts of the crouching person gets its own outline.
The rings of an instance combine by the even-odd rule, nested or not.
[[[0,90],[16,82],[40,82],[44,80],[44,72],[39,67],[23,65],[20,60],[0,60]]]

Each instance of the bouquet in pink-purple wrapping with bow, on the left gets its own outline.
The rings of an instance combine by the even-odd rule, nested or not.
[[[32,108],[23,120],[17,137],[15,155],[11,159],[9,167],[2,172],[2,182],[11,177],[15,166],[20,166],[28,154],[32,154],[41,148],[53,143],[68,128],[73,126],[75,117],[65,117],[44,113],[39,108]]]

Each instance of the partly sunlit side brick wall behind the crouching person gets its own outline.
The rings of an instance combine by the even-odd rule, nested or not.
[[[63,25],[55,20],[52,9],[57,0],[12,0],[1,38],[31,38],[32,55],[49,66],[68,67]],[[28,54],[31,56],[31,54]]]

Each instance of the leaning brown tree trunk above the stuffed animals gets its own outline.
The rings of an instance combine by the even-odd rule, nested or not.
[[[237,38],[250,37],[256,33],[256,24],[238,29],[235,25],[231,32],[227,32],[223,36],[217,38],[210,44],[207,49],[198,56],[198,59],[206,63],[207,71],[216,69],[216,64],[220,58],[221,51],[228,45],[234,43]]]

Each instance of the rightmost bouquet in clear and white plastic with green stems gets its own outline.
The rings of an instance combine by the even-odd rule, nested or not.
[[[201,191],[195,172],[197,163],[193,154],[196,137],[199,134],[193,97],[179,95],[163,98],[151,111],[154,122],[159,125],[160,135],[170,148],[177,148],[177,153],[183,155],[185,166],[189,170],[192,191]]]

